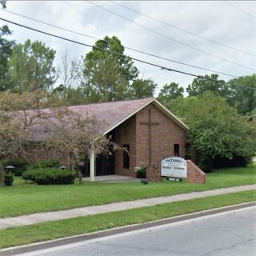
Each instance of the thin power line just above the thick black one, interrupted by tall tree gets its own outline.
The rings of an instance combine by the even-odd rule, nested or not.
[[[39,22],[39,23],[42,23],[44,25],[47,25],[47,26],[52,26],[54,28],[58,28],[59,30],[64,30],[64,31],[67,31],[67,32],[70,32],[70,33],[73,33],[73,34],[78,34],[78,35],[82,35],[83,37],[86,37],[86,38],[92,38],[92,39],[95,39],[95,40],[101,40],[101,41],[104,41],[100,38],[95,38],[94,36],[91,36],[91,35],[88,35],[88,34],[82,34],[82,33],[79,33],[77,31],[74,31],[74,30],[69,30],[69,29],[66,29],[66,28],[63,28],[62,26],[56,26],[54,24],[50,24],[48,22],[42,22],[42,21],[39,21],[38,19],[35,19],[35,18],[30,18],[26,15],[22,15],[22,14],[17,14],[17,13],[14,13],[13,11],[10,11],[10,10],[4,10],[6,11],[7,13],[10,13],[10,14],[14,14],[14,15],[17,15],[19,17],[22,17],[22,18],[27,18],[27,19],[30,19],[34,22]],[[195,65],[191,65],[191,64],[187,64],[187,63],[184,63],[184,62],[179,62],[179,61],[175,61],[173,59],[170,59],[170,58],[165,58],[165,57],[162,57],[162,56],[158,56],[156,54],[150,54],[150,53],[147,53],[145,51],[142,51],[142,50],[137,50],[137,49],[134,49],[134,48],[131,48],[129,46],[123,46],[125,47],[127,50],[132,50],[134,52],[138,52],[140,54],[145,54],[147,56],[150,56],[150,57],[154,57],[154,58],[160,58],[162,60],[165,60],[165,61],[168,61],[168,62],[174,62],[174,63],[178,63],[180,65],[184,65],[184,66],[190,66],[190,67],[194,67],[194,68],[197,68],[197,69],[200,69],[200,70],[206,70],[206,71],[210,71],[210,72],[214,72],[214,73],[217,73],[217,74],[224,74],[226,76],[229,76],[231,78],[238,78],[237,76],[233,75],[233,74],[226,74],[226,73],[223,73],[223,72],[220,72],[220,71],[216,71],[216,70],[210,70],[210,69],[207,69],[205,67],[202,67],[202,66],[195,66]]]

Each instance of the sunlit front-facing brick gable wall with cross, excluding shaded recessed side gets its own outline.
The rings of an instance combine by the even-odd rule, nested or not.
[[[151,128],[151,164],[158,165],[162,159],[174,156],[174,144],[179,144],[180,157],[184,158],[186,131],[150,104],[136,114],[136,166],[150,165],[150,127],[142,124],[149,122],[149,109],[151,122],[158,122],[158,125]]]

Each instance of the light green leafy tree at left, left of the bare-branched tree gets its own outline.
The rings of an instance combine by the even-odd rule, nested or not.
[[[26,40],[14,46],[9,61],[10,82],[14,92],[50,90],[55,82],[55,51],[42,42]]]

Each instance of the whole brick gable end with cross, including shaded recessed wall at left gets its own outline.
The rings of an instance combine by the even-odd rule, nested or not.
[[[115,174],[136,177],[135,166],[150,166],[150,126],[145,124],[149,122],[149,109],[151,122],[158,123],[151,130],[152,166],[159,165],[163,158],[173,156],[174,144],[179,144],[180,157],[184,158],[186,131],[150,104],[114,130],[115,142],[119,146],[130,145],[130,169],[122,167],[122,151],[116,151]],[[155,170],[150,169],[148,175],[155,176],[153,173]]]

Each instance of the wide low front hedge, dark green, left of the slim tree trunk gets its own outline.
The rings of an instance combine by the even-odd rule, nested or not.
[[[57,168],[30,169],[22,175],[22,178],[38,185],[73,184],[75,177],[74,172]]]

